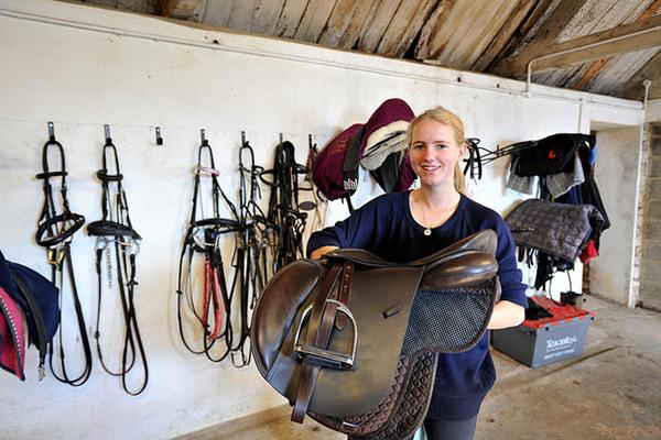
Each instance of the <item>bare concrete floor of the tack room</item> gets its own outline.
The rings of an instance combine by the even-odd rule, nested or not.
[[[594,297],[585,308],[596,320],[579,359],[531,370],[492,350],[499,377],[479,414],[477,440],[661,439],[661,314]],[[221,438],[345,439],[289,417]]]

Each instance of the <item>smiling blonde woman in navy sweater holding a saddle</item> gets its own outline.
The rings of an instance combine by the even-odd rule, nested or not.
[[[420,188],[378,197],[348,219],[313,233],[308,255],[319,257],[333,249],[359,248],[387,261],[408,262],[491,229],[498,234],[496,257],[502,295],[489,328],[519,324],[527,300],[514,241],[496,211],[465,195],[459,167],[466,153],[464,124],[456,114],[438,107],[413,119],[407,140]],[[434,394],[424,422],[427,438],[473,439],[479,407],[495,377],[488,334],[468,351],[438,354]]]

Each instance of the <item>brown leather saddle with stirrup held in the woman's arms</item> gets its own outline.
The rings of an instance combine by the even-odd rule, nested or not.
[[[278,272],[252,316],[252,354],[292,420],[308,414],[355,438],[412,435],[436,353],[468,350],[486,331],[500,294],[496,244],[485,230],[407,264],[343,249]]]

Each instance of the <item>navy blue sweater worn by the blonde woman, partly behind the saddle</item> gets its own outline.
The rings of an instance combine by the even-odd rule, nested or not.
[[[501,299],[527,307],[525,285],[517,268],[514,241],[502,218],[462,196],[457,210],[432,234],[411,216],[410,193],[380,196],[334,227],[314,232],[307,254],[324,245],[360,248],[391,262],[408,262],[453,244],[484,229],[498,233],[498,275]],[[463,353],[440,354],[434,394],[427,417],[442,420],[467,420],[477,415],[485,395],[496,381],[489,354],[488,332],[473,349]]]

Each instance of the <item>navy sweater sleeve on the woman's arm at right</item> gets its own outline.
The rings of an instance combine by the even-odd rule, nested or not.
[[[496,232],[498,233],[496,258],[498,260],[498,277],[502,288],[500,299],[528,308],[525,285],[521,283],[522,274],[517,266],[514,238],[500,216],[498,216]]]

